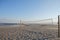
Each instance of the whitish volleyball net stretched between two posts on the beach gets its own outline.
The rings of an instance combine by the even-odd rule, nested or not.
[[[20,20],[21,24],[54,24],[53,19],[43,19],[43,20],[35,20],[35,21],[24,21]]]

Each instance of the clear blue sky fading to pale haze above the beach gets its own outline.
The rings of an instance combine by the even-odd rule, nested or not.
[[[60,0],[0,0],[2,20],[41,20],[56,18],[59,14]]]

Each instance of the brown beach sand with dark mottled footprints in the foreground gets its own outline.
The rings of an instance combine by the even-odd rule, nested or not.
[[[57,25],[0,26],[0,40],[59,40]]]

